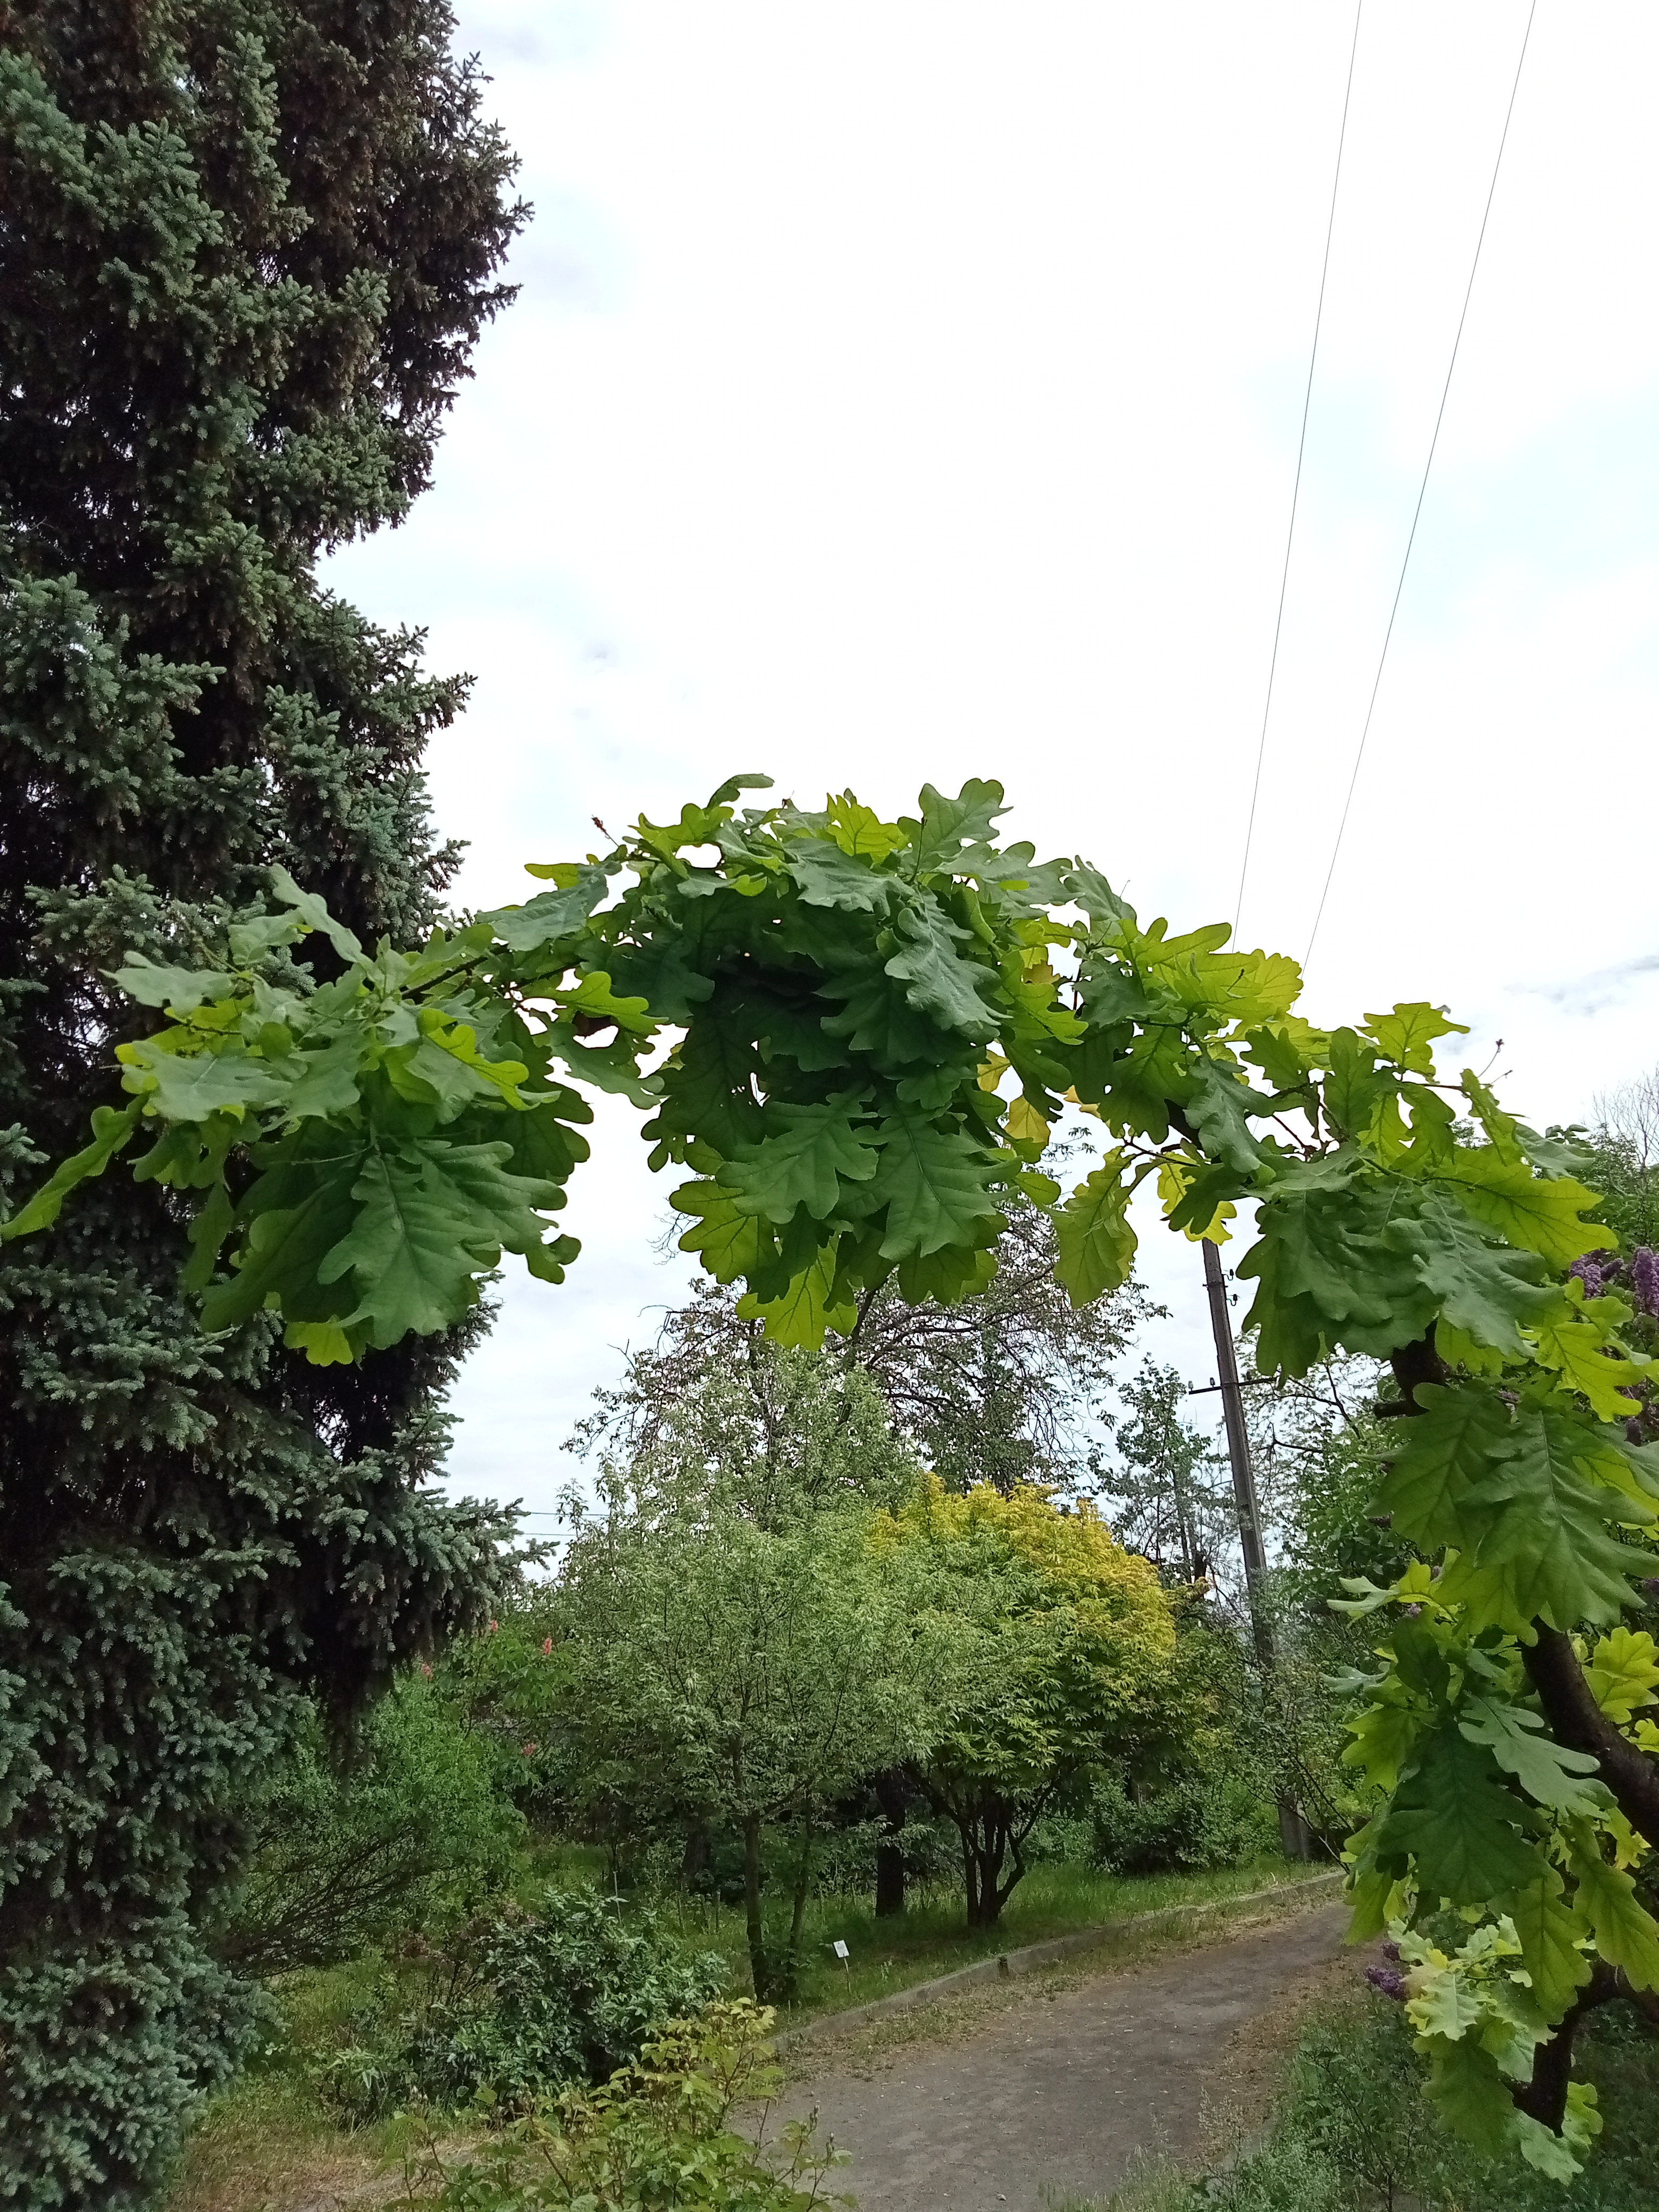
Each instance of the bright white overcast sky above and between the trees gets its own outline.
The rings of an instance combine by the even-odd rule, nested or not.
[[[1369,0],[1243,938],[1301,958],[1469,283],[1526,0]],[[1009,834],[1230,918],[1354,13],[1345,0],[484,0],[535,221],[434,491],[332,582],[469,668],[460,894],[732,770]],[[1314,1020],[1449,1002],[1540,1121],[1659,1060],[1659,11],[1540,0]],[[672,1301],[606,1110],[562,1290],[460,1387],[546,1509]],[[518,1265],[518,1263],[509,1263]],[[1194,1250],[1155,1349],[1208,1380]],[[1214,1405],[1214,1400],[1199,1400]]]

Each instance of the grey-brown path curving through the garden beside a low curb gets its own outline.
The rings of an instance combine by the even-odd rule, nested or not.
[[[852,2152],[838,2185],[860,2212],[1037,2212],[1102,2197],[1137,2154],[1197,2154],[1217,2104],[1259,2099],[1265,2084],[1252,2077],[1272,2073],[1303,2002],[1360,1973],[1343,1953],[1347,1918],[1347,1905],[1327,1905],[1141,1966],[1033,1984],[962,2020],[945,2048],[827,2044],[783,2117],[816,2106]]]

